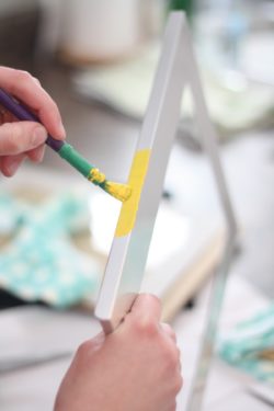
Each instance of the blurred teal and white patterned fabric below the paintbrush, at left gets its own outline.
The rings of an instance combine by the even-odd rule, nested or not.
[[[99,269],[70,240],[71,232],[88,224],[87,203],[67,193],[34,206],[2,193],[0,236],[10,235],[12,241],[0,251],[0,287],[56,307],[91,294]]]

